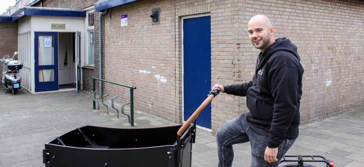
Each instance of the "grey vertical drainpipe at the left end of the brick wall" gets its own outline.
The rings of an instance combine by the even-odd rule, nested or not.
[[[102,79],[102,61],[101,61],[101,44],[102,44],[102,38],[101,38],[101,23],[102,23],[102,16],[107,13],[107,10],[103,12],[98,13],[98,78]],[[98,81],[98,90],[100,90],[100,96],[103,94],[102,90],[102,81]]]

